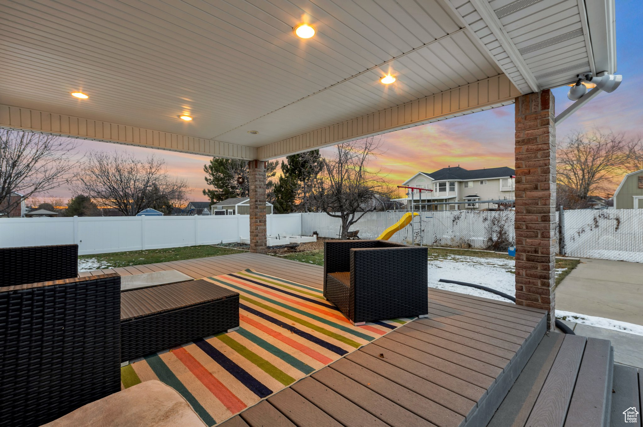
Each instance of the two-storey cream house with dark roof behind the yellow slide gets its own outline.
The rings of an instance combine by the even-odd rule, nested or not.
[[[426,188],[433,191],[422,191],[422,209],[432,211],[482,211],[498,209],[503,204],[478,203],[483,200],[514,200],[516,171],[511,168],[489,168],[466,170],[460,166],[442,168],[435,172],[418,172],[404,182],[404,186]],[[420,202],[420,193],[413,190],[413,198]],[[395,199],[404,202],[410,209],[411,199]],[[426,205],[431,202],[453,202],[452,204]],[[469,202],[456,204],[455,202]],[[511,203],[507,203],[511,207]],[[417,209],[417,205],[415,209]]]

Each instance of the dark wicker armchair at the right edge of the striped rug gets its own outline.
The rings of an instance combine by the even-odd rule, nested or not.
[[[324,242],[325,299],[353,324],[428,315],[428,249],[385,240]]]

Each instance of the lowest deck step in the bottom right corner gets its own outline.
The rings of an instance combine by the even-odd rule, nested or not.
[[[641,427],[643,376],[640,370],[625,365],[614,365],[613,393],[611,395],[610,427]],[[635,408],[636,422],[626,422],[623,412]]]

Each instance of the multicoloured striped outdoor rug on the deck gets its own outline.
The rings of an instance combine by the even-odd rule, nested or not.
[[[239,292],[239,330],[148,356],[121,378],[163,381],[209,426],[411,320],[353,326],[321,290],[253,270],[207,280]]]

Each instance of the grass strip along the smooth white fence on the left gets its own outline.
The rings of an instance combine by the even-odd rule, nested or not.
[[[186,246],[180,248],[132,250],[131,252],[113,252],[111,254],[84,255],[78,257],[82,270],[98,268],[125,267],[131,265],[165,263],[181,259],[203,258],[228,254],[240,254],[244,251],[219,248],[210,245]],[[91,266],[96,265],[95,268]]]

